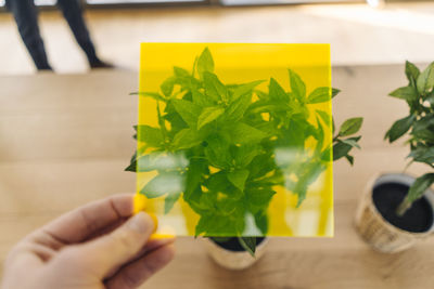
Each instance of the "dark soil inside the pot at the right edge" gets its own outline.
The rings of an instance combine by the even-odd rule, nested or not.
[[[373,203],[379,212],[392,225],[412,233],[423,233],[433,225],[433,208],[425,197],[414,201],[403,216],[396,214],[396,208],[407,195],[409,187],[399,183],[386,183],[374,187]]]

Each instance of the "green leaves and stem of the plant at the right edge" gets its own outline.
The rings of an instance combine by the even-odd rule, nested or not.
[[[422,162],[434,168],[434,63],[421,73],[414,64],[406,62],[405,73],[408,86],[398,88],[390,95],[406,101],[410,111],[407,117],[393,123],[384,139],[393,143],[407,134],[407,144],[411,150],[408,155],[409,165]],[[433,171],[419,176],[396,209],[396,213],[404,215],[433,183]]]

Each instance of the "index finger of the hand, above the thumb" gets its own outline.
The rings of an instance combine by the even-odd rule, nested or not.
[[[116,195],[65,213],[41,229],[63,244],[76,244],[132,213],[133,195]]]

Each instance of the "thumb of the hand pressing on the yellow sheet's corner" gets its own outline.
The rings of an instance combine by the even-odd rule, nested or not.
[[[139,212],[112,233],[77,246],[71,254],[103,278],[113,268],[131,260],[146,244],[153,231],[152,218]]]

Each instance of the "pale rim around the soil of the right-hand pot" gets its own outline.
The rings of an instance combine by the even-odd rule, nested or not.
[[[384,222],[385,226],[388,227],[390,229],[397,231],[400,234],[405,234],[408,236],[425,237],[425,236],[434,234],[434,220],[433,220],[433,223],[431,224],[431,227],[425,232],[409,232],[409,231],[403,229],[400,227],[397,227],[397,226],[391,224],[376,209],[376,206],[373,203],[373,199],[372,199],[372,193],[373,193],[374,187],[376,187],[381,184],[388,183],[388,182],[395,182],[395,183],[400,183],[404,185],[411,186],[411,184],[414,182],[414,180],[416,180],[416,178],[413,175],[408,174],[408,173],[403,173],[403,172],[385,172],[385,173],[380,173],[380,174],[375,175],[369,182],[368,187],[367,187],[368,195],[369,195],[369,206],[372,208],[374,213],[381,218],[381,220]],[[432,212],[434,215],[434,191],[430,187],[425,191],[423,196],[430,202],[431,209],[432,209]]]

